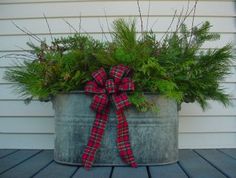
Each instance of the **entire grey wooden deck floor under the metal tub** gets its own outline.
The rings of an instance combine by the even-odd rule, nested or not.
[[[53,161],[52,150],[0,150],[0,178],[236,178],[236,149],[180,150],[165,166],[82,167]]]

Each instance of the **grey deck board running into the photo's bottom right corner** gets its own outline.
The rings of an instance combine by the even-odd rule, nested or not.
[[[213,164],[230,178],[236,178],[236,160],[218,150],[196,150],[201,156]]]

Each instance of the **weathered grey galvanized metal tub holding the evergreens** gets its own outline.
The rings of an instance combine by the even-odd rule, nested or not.
[[[125,111],[134,157],[139,165],[160,165],[178,160],[178,112],[175,101],[148,94],[155,100],[158,112]],[[55,110],[56,162],[81,164],[95,113],[90,109],[91,96],[83,92],[60,94],[53,99]],[[94,165],[126,165],[116,147],[116,117],[111,109],[109,121]]]

